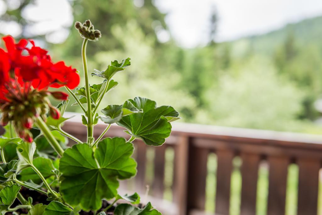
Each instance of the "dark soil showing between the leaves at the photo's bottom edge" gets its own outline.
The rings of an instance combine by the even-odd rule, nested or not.
[[[44,205],[48,205],[50,203],[50,201],[47,201],[47,196],[39,193],[37,191],[33,191],[33,190],[29,190],[25,187],[22,187],[20,190],[20,193],[24,196],[25,199],[28,199],[28,197],[32,197],[33,198],[33,205],[35,204],[39,204],[39,203],[43,203]],[[18,199],[16,199],[14,201],[14,203],[12,204],[11,208],[14,208],[15,206],[21,204],[20,201]],[[102,204],[102,208],[98,210],[97,213],[99,213],[100,211],[104,210],[107,206],[109,206],[109,203],[105,200],[103,200],[103,204]],[[106,214],[107,215],[113,215],[114,211],[114,207],[111,207]],[[19,209],[17,210],[17,212],[19,214],[27,214],[28,211],[25,209]],[[12,214],[12,213],[6,213],[6,214]],[[85,211],[80,211],[80,215],[94,215],[94,213],[92,211],[90,212],[85,212]]]

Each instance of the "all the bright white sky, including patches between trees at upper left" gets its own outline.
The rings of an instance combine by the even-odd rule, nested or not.
[[[10,2],[9,7],[14,8],[19,0]],[[140,6],[142,0],[134,2]],[[155,4],[167,13],[170,34],[178,45],[186,48],[208,43],[209,20],[214,10],[218,16],[217,42],[267,33],[288,23],[322,15],[322,0],[155,0]],[[3,0],[0,0],[0,15],[5,11]],[[67,0],[36,0],[35,5],[28,6],[23,15],[39,23],[26,30],[32,36],[46,27],[45,33],[51,32],[46,34],[49,42],[63,42],[73,23],[71,11]],[[1,20],[0,30],[13,36],[21,32],[19,25]],[[169,33],[159,31],[158,37],[166,42]]]

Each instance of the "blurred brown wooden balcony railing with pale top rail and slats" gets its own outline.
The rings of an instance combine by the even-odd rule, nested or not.
[[[69,114],[69,113],[67,113]],[[86,140],[86,127],[78,117],[68,120],[63,129],[81,140]],[[99,136],[105,124],[95,126]],[[123,136],[124,128],[111,126],[106,136]],[[298,215],[316,215],[319,170],[322,164],[322,136],[226,128],[173,123],[173,132],[166,143],[150,147],[135,140],[134,157],[138,172],[134,181],[123,182],[120,189],[135,187],[143,201],[146,185],[150,185],[149,201],[166,214],[205,214],[207,159],[210,153],[217,157],[215,212],[229,214],[231,194],[232,160],[242,160],[241,215],[256,214],[258,169],[261,161],[269,165],[267,214],[285,214],[287,176],[289,164],[298,165]],[[165,191],[165,152],[174,151],[172,194],[173,201],[163,200]],[[154,150],[151,161],[147,152]],[[146,172],[152,165],[154,171]],[[153,179],[147,182],[147,176]]]

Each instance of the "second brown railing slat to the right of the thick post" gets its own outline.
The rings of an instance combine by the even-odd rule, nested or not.
[[[216,214],[228,215],[230,204],[230,179],[232,174],[233,151],[218,150]]]

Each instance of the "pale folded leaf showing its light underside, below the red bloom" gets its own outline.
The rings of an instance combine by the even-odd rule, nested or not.
[[[27,168],[31,164],[33,164],[33,154],[36,150],[36,144],[34,142],[22,142],[20,145],[17,146],[16,150],[19,157],[17,171]]]

